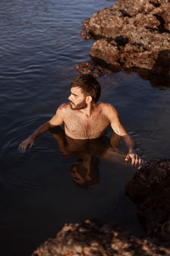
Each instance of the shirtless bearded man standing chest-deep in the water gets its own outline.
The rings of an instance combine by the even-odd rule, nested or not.
[[[125,160],[131,158],[131,165],[134,166],[143,164],[143,160],[135,152],[135,141],[121,124],[117,110],[111,104],[98,102],[101,87],[95,77],[90,74],[79,75],[73,79],[70,88],[70,102],[63,103],[51,120],[22,141],[19,149],[26,150],[27,146],[31,148],[38,135],[63,123],[66,136],[72,139],[101,137],[110,124],[113,131],[122,136],[128,146],[129,153]]]

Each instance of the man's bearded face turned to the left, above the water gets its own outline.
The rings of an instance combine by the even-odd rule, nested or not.
[[[84,97],[82,89],[79,87],[71,88],[71,94],[68,99],[71,103],[72,110],[80,110],[87,107],[86,97]]]

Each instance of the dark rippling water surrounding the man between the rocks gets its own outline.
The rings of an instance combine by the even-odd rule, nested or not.
[[[124,185],[137,168],[124,166],[123,141],[110,158],[96,152],[82,159],[69,147],[63,155],[63,132],[53,130],[38,137],[31,150],[18,151],[18,144],[68,101],[70,82],[79,74],[75,66],[90,61],[94,41],[80,37],[82,22],[114,3],[1,1],[0,255],[29,256],[64,223],[91,217],[143,234],[135,206],[124,195]],[[117,108],[139,155],[145,160],[169,157],[169,79],[120,71],[98,80],[100,100]],[[106,132],[109,139],[110,127]],[[97,143],[106,149],[103,141]],[[90,182],[86,162],[92,170]]]

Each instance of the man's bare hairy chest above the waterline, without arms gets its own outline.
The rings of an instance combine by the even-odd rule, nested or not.
[[[88,117],[81,111],[72,110],[70,104],[64,110],[64,129],[68,137],[73,139],[95,139],[103,135],[110,120],[102,110],[102,103]]]

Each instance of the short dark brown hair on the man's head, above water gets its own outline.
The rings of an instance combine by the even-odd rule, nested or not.
[[[91,96],[93,98],[92,103],[96,103],[99,100],[101,93],[100,83],[91,74],[82,74],[76,76],[72,81],[70,88],[79,87],[82,89],[84,96]]]

